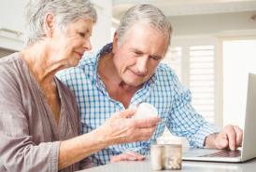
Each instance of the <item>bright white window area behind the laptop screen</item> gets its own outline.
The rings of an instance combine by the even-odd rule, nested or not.
[[[248,73],[256,73],[256,36],[223,42],[223,125],[244,127]]]

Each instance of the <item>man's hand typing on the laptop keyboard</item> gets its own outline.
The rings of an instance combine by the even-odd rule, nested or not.
[[[242,145],[243,130],[239,126],[224,126],[218,134],[206,137],[205,146],[211,149],[230,149],[235,151]]]

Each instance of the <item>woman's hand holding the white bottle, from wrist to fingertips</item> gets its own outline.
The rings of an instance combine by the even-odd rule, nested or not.
[[[131,118],[135,109],[116,112],[103,126],[97,128],[97,136],[109,145],[148,140],[160,122],[159,117],[148,119]]]

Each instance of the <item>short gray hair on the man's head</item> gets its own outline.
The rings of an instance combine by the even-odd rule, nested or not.
[[[151,5],[136,5],[131,7],[121,18],[120,25],[117,29],[119,36],[119,44],[125,35],[125,33],[135,24],[144,23],[149,24],[153,28],[160,30],[167,36],[168,46],[170,45],[172,27],[171,23],[164,16],[163,12]]]

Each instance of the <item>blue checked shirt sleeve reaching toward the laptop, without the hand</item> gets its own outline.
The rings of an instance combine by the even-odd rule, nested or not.
[[[178,76],[169,70],[166,72],[166,91],[171,104],[167,107],[166,127],[178,137],[186,137],[192,147],[204,147],[206,136],[218,133],[219,129],[206,122],[204,117],[192,107],[191,91],[178,80]]]

